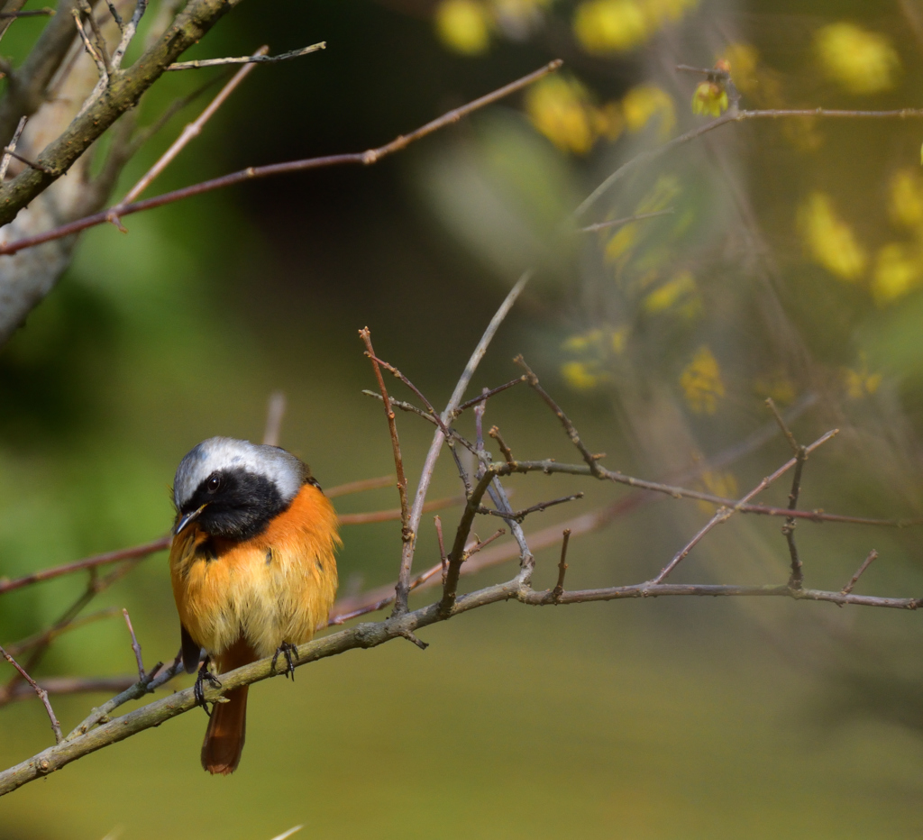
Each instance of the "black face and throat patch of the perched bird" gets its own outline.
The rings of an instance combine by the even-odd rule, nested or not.
[[[279,488],[265,475],[218,470],[198,485],[178,511],[174,533],[195,520],[211,536],[246,540],[264,531],[287,507]]]

